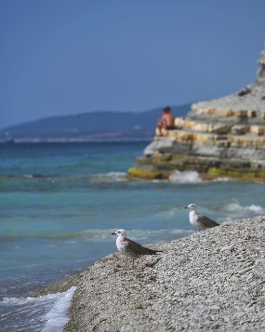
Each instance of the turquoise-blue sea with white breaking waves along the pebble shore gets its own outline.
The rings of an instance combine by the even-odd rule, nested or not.
[[[223,222],[265,214],[264,182],[129,179],[146,142],[0,145],[0,330],[61,331],[74,288],[26,297],[116,251],[119,228],[141,244],[194,232],[183,206]]]

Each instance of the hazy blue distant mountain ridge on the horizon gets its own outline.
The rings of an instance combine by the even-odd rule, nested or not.
[[[191,104],[172,106],[174,116],[186,115]],[[150,138],[161,108],[144,112],[98,111],[51,116],[0,130],[0,139],[94,140]]]

